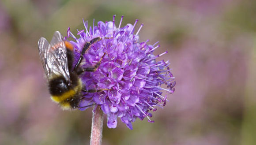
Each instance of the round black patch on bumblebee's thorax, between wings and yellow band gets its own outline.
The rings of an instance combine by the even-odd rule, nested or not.
[[[71,86],[71,82],[66,81],[66,79],[62,76],[53,78],[49,81],[49,91],[51,95],[60,96]]]

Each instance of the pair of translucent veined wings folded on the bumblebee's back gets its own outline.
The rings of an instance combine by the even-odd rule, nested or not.
[[[69,81],[67,50],[60,32],[56,31],[53,34],[50,45],[44,37],[41,37],[38,41],[38,49],[47,78],[62,75]]]

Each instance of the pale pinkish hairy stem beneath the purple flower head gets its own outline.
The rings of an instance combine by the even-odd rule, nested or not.
[[[102,127],[103,127],[103,112],[100,106],[94,105],[94,111],[92,112],[90,145],[102,144]]]

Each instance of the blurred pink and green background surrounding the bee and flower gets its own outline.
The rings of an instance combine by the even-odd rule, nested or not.
[[[255,0],[1,0],[0,145],[89,145],[91,110],[50,100],[41,36],[83,28],[82,18],[134,23],[140,40],[168,50],[177,85],[155,123],[103,128],[103,145],[255,145]]]

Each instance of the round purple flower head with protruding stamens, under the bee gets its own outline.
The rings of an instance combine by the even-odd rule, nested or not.
[[[119,26],[113,21],[99,21],[97,26],[88,29],[88,23],[83,21],[85,30],[77,30],[79,38],[76,38],[68,28],[68,37],[74,45],[75,61],[77,62],[80,52],[86,42],[95,37],[101,37],[102,41],[94,43],[84,55],[82,67],[94,66],[101,57],[100,66],[95,72],[85,72],[80,77],[86,89],[109,89],[98,93],[84,93],[84,100],[80,106],[97,104],[107,115],[107,126],[117,127],[117,117],[132,130],[132,123],[139,118],[152,116],[150,110],[156,111],[157,106],[162,108],[166,104],[167,93],[174,92],[175,81],[168,61],[156,61],[156,58],[166,54],[163,52],[155,56],[154,50],[159,45],[148,45],[147,41],[139,41],[139,30],[134,33],[135,23],[121,27],[123,16]],[[155,46],[156,45],[156,46]],[[75,65],[75,63],[74,63]],[[164,88],[165,85],[166,88]],[[87,108],[87,107],[86,107]],[[85,110],[86,108],[80,108]]]

